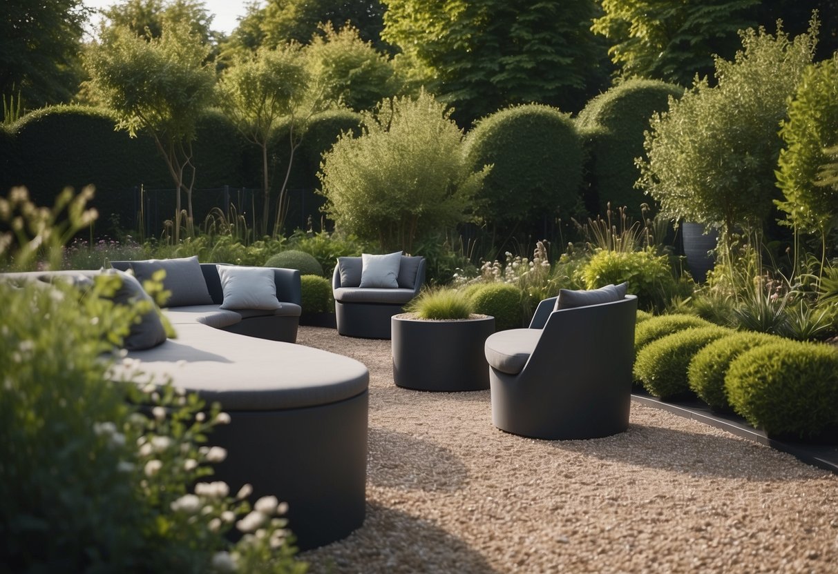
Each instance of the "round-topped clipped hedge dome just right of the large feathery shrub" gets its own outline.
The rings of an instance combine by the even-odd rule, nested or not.
[[[582,145],[569,115],[519,105],[479,120],[466,141],[468,165],[493,166],[479,213],[504,230],[580,209]]]

